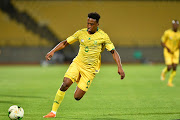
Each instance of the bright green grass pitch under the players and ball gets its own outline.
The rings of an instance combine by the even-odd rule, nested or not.
[[[180,119],[180,71],[173,88],[160,81],[164,65],[124,65],[122,81],[116,65],[102,65],[89,91],[73,98],[76,83],[66,92],[55,120],[172,120]],[[0,66],[0,120],[8,108],[24,108],[23,120],[44,120],[68,65]],[[167,77],[169,74],[167,75]],[[53,120],[53,118],[49,119]]]

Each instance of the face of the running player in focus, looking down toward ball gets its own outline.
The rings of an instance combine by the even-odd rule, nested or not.
[[[96,19],[88,18],[87,20],[87,29],[88,33],[94,34],[97,31],[99,23],[96,22]]]

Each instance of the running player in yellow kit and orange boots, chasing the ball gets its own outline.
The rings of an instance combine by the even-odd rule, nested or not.
[[[66,90],[68,90],[72,83],[77,83],[74,98],[78,101],[84,96],[90,87],[95,74],[98,73],[100,69],[101,52],[104,48],[112,53],[112,57],[117,63],[118,73],[121,75],[121,79],[125,77],[118,52],[115,50],[108,35],[98,28],[99,19],[100,15],[98,13],[89,13],[87,18],[87,28],[78,30],[47,53],[46,60],[50,60],[51,57],[53,57],[54,52],[65,48],[67,45],[76,41],[80,44],[78,55],[70,64],[64,75],[63,83],[56,93],[52,110],[49,114],[43,116],[44,118],[56,117],[57,109],[64,98]]]

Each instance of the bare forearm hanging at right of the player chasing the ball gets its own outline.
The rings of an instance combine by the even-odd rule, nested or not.
[[[119,73],[119,75],[121,75],[121,79],[124,79],[125,73],[124,73],[124,70],[122,68],[121,58],[120,58],[118,52],[116,50],[111,50],[110,52],[112,53],[113,59],[118,66],[118,73]]]

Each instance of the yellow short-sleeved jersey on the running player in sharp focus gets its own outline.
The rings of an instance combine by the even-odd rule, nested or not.
[[[87,28],[84,28],[66,40],[69,44],[79,41],[79,52],[73,62],[94,73],[98,73],[100,70],[101,52],[104,48],[108,51],[115,49],[109,36],[101,29],[98,29],[94,34],[89,34]]]

